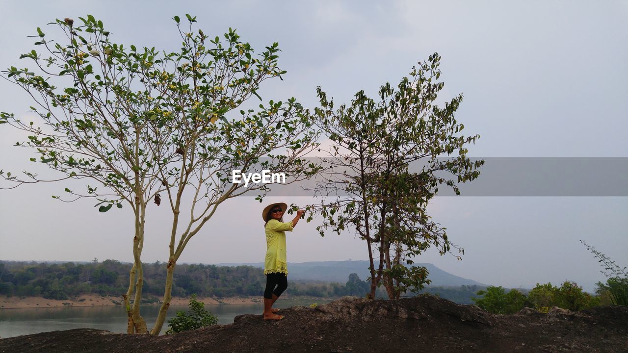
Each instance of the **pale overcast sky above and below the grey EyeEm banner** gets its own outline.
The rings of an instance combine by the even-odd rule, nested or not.
[[[175,50],[180,38],[171,18],[190,13],[206,35],[236,28],[258,52],[279,42],[288,73],[263,86],[266,100],[294,96],[314,107],[320,85],[337,102],[349,102],[360,89],[374,95],[379,85],[398,82],[438,52],[443,99],[462,92],[457,120],[466,134],[481,135],[468,155],[628,157],[627,1],[3,1],[0,8],[3,70],[31,65],[18,59],[34,47],[26,36],[55,18],[93,14],[114,42]],[[30,105],[25,92],[0,80],[0,111],[34,119]],[[31,153],[12,147],[22,140],[0,126],[0,169],[46,174],[26,163]],[[65,187],[0,190],[0,259],[132,261],[129,209],[100,214],[92,200],[63,204],[50,197]],[[263,261],[260,214],[274,201],[310,198],[229,200],[180,261]],[[167,260],[168,213],[163,205],[148,209],[145,262]],[[628,265],[627,197],[437,197],[430,214],[465,256],[457,261],[430,251],[420,261],[482,283],[531,288],[572,280],[593,290],[604,276],[578,239]],[[351,234],[321,238],[316,225],[301,222],[288,233],[288,261],[367,259],[364,242]]]

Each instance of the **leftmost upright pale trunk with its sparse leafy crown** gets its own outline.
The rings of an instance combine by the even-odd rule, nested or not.
[[[131,46],[131,52],[126,52],[124,46],[109,40],[109,31],[104,30],[102,21],[91,15],[80,21],[78,26],[69,18],[51,23],[61,30],[60,41],[46,39],[37,28],[35,45],[43,46],[43,50],[32,50],[20,58],[33,60],[38,72],[16,67],[3,72],[6,79],[31,95],[35,101],[31,111],[41,118],[43,126],[26,124],[6,112],[0,114],[0,123],[30,133],[30,141],[18,142],[16,146],[36,149],[40,157],[31,158],[32,162],[43,163],[65,176],[44,180],[28,171],[23,172],[24,179],[11,176],[10,172],[0,175],[16,182],[13,187],[87,178],[102,188],[88,184],[85,193],[65,188],[73,199],[58,195],[53,198],[63,202],[95,198],[100,212],[107,212],[112,205],[122,208],[125,202],[131,206],[134,264],[129,271],[127,293],[123,295],[127,332],[146,332],[146,323],[139,314],[144,219],[149,200],[166,183],[158,177],[160,164],[176,158],[169,150],[171,131],[166,122],[170,114],[162,111],[154,99],[154,82],[144,79],[152,65],[146,61],[151,50],[144,48],[144,53],[138,53]]]

